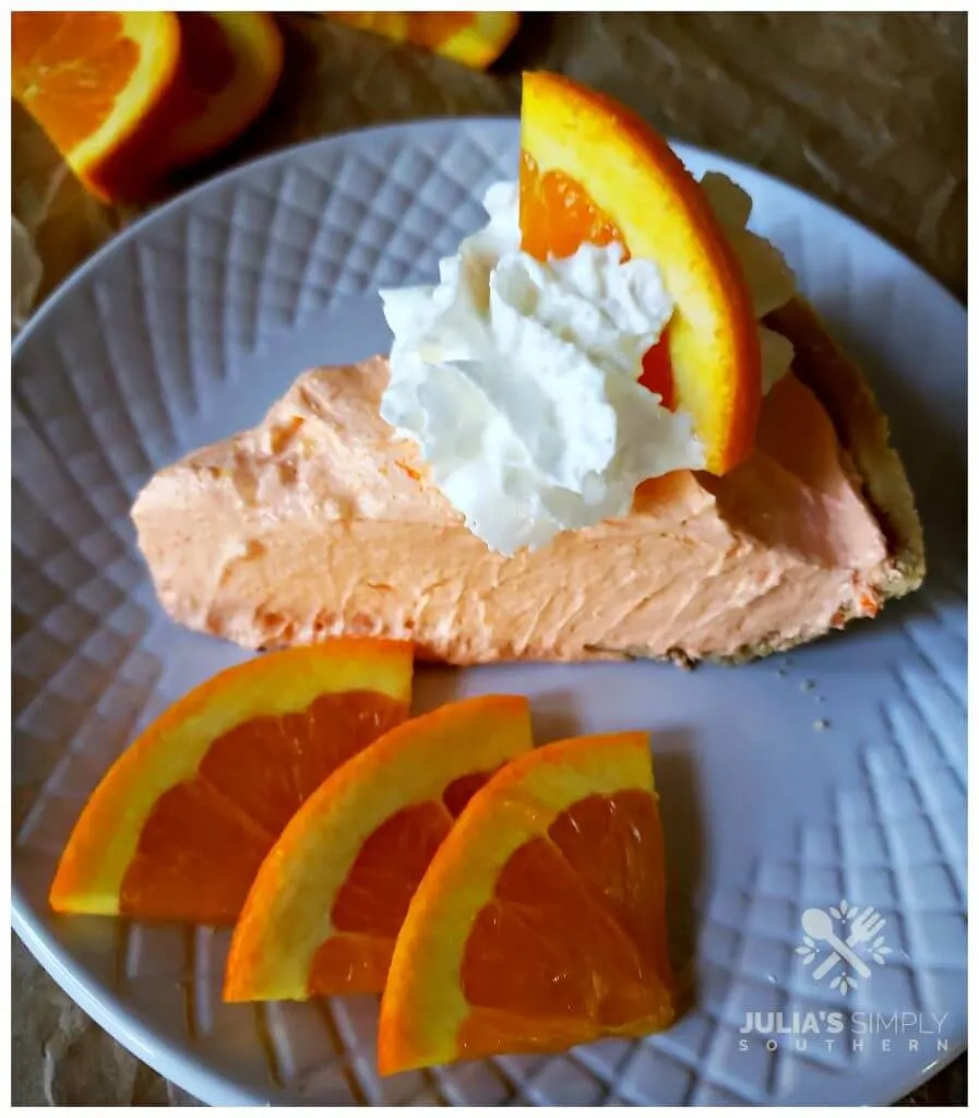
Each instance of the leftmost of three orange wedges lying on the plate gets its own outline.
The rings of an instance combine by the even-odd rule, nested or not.
[[[232,923],[286,823],[408,717],[411,645],[338,639],[250,660],[170,707],[85,805],[59,912]]]

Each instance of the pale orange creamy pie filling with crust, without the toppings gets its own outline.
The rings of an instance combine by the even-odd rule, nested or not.
[[[377,634],[457,664],[743,660],[871,617],[921,580],[912,499],[853,367],[804,306],[782,321],[797,372],[768,395],[748,462],[653,479],[627,517],[512,557],[381,419],[386,360],[304,373],[255,430],[140,495],[160,600],[248,648]]]

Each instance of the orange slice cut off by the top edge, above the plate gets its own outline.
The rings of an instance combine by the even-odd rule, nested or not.
[[[363,31],[411,42],[474,69],[486,69],[503,54],[520,27],[515,11],[330,11]]]

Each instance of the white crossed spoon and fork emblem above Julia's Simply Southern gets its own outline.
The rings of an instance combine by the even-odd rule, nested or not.
[[[886,963],[891,954],[882,934],[886,922],[873,904],[858,908],[842,900],[828,909],[806,909],[802,944],[796,948],[796,954],[801,955],[807,967],[821,955],[812,970],[814,980],[829,978],[833,989],[846,994],[859,986],[859,979],[871,977],[872,965]]]

